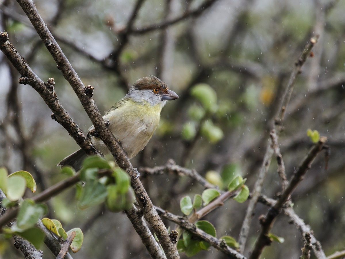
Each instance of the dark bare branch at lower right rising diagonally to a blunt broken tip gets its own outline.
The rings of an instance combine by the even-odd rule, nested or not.
[[[273,226],[275,218],[282,210],[284,203],[287,201],[288,197],[291,195],[293,190],[296,188],[298,183],[302,181],[303,176],[311,167],[312,162],[315,157],[325,148],[325,142],[327,141],[326,137],[320,137],[320,140],[317,144],[313,146],[311,151],[303,160],[302,164],[299,166],[298,170],[294,173],[292,180],[289,185],[286,187],[285,191],[279,196],[276,203],[271,207],[266,216],[260,217],[260,223],[262,225],[262,231],[260,231],[259,237],[255,243],[253,251],[250,253],[249,259],[258,259],[265,246],[268,246],[272,240],[269,238],[268,234],[270,229]]]

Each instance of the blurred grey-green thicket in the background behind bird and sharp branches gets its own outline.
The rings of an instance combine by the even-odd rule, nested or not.
[[[319,156],[292,200],[326,255],[344,249],[345,1],[36,0],[35,4],[83,83],[95,87],[93,97],[102,113],[149,74],[180,96],[164,108],[156,134],[132,159],[135,167],[164,165],[168,159],[201,175],[231,167],[247,178],[249,190],[262,163],[282,89],[303,46],[318,33],[313,58],[296,80],[279,143],[289,179],[312,146],[307,129],[327,136],[328,169]],[[126,30],[135,6],[138,12]],[[176,23],[159,26],[178,17]],[[87,131],[86,113],[19,5],[0,0],[0,19],[1,31],[8,31],[10,41],[43,81],[54,78],[60,102]],[[29,171],[43,190],[66,177],[55,165],[78,146],[50,118],[40,96],[18,84],[18,77],[0,54],[0,164],[9,172]],[[281,188],[272,161],[263,193],[274,197]],[[180,215],[181,197],[203,191],[182,176],[141,177],[155,205]],[[83,247],[73,258],[148,257],[124,213],[109,212],[101,205],[80,210],[74,195],[75,190],[69,190],[48,203],[49,218],[84,233]],[[247,204],[229,200],[207,215],[217,237],[238,237]],[[245,254],[260,229],[258,216],[266,209],[257,205]],[[302,238],[285,216],[278,217],[272,232],[285,242],[267,247],[262,258],[299,257]],[[225,258],[213,248],[197,256]],[[22,255],[1,240],[0,257]],[[45,249],[44,258],[53,256]]]

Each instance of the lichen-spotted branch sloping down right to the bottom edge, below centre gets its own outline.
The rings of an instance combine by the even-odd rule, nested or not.
[[[237,252],[236,250],[230,248],[229,246],[227,246],[226,243],[218,240],[217,238],[211,236],[210,234],[207,234],[206,232],[204,232],[201,229],[198,229],[193,223],[190,223],[187,219],[183,218],[183,217],[179,217],[177,215],[174,215],[168,211],[165,211],[159,207],[156,207],[156,210],[158,211],[159,215],[163,218],[166,218],[172,222],[175,222],[176,224],[178,224],[180,227],[182,227],[185,230],[188,230],[189,232],[195,234],[196,236],[198,236],[199,238],[205,240],[206,242],[208,242],[211,246],[213,246],[214,248],[219,249],[220,251],[222,251],[223,253],[225,253],[226,255],[228,255],[228,258],[232,258],[232,259],[246,259],[245,256],[241,255],[239,252]]]

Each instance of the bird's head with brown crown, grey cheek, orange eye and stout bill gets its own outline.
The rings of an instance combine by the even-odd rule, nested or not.
[[[178,95],[169,90],[167,85],[155,76],[138,79],[129,89],[128,98],[139,103],[149,103],[152,106],[163,107],[168,100],[175,100]]]

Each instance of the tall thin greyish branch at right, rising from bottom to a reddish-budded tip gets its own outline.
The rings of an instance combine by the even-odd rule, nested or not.
[[[296,79],[297,75],[301,73],[301,71],[302,71],[301,68],[302,68],[303,64],[305,63],[307,57],[309,56],[313,46],[316,44],[317,39],[318,39],[318,35],[314,36],[313,38],[311,38],[309,40],[307,45],[304,47],[302,54],[298,57],[297,61],[295,62],[295,65],[293,66],[289,81],[288,81],[286,88],[285,88],[285,93],[282,97],[282,103],[281,103],[280,109],[279,109],[279,111],[277,111],[277,118],[275,120],[276,120],[276,123],[278,125],[282,124],[282,122],[284,120],[286,107],[290,101],[290,97],[291,97],[292,91],[294,89],[295,79]],[[274,128],[275,128],[275,125],[273,125],[273,129]],[[278,136],[278,134],[279,134],[279,131],[277,132],[277,136]],[[252,196],[252,199],[250,199],[250,201],[249,201],[246,215],[245,215],[244,221],[242,223],[241,232],[239,234],[240,251],[242,253],[244,251],[245,244],[247,241],[250,224],[252,223],[252,220],[253,220],[253,212],[254,212],[254,209],[256,207],[257,199],[260,195],[262,185],[264,183],[264,179],[266,178],[266,174],[268,172],[268,167],[270,165],[273,153],[274,152],[273,152],[273,148],[272,148],[272,140],[269,139],[267,147],[266,147],[266,152],[264,155],[264,160],[263,160],[262,166],[260,167],[260,172],[259,172],[257,181],[254,184],[253,196]]]

